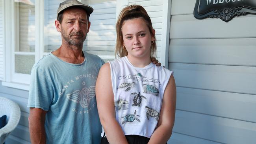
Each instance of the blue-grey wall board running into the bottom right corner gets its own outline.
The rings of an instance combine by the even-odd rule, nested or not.
[[[173,131],[224,144],[255,144],[256,125],[251,122],[176,111]]]

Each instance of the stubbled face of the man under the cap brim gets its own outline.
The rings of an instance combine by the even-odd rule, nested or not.
[[[89,28],[90,22],[84,9],[74,7],[63,12],[60,32],[64,41],[74,46],[83,45]]]

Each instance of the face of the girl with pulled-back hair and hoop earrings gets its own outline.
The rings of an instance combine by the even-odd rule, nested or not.
[[[155,34],[155,30],[153,30],[153,34]],[[154,37],[150,35],[143,18],[124,21],[122,37],[129,57],[145,59],[150,57],[151,41],[154,41]]]

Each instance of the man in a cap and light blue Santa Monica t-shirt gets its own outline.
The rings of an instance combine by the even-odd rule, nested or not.
[[[59,4],[55,26],[62,44],[35,63],[31,72],[32,144],[100,143],[95,83],[104,61],[82,50],[92,12],[92,7],[77,0]]]

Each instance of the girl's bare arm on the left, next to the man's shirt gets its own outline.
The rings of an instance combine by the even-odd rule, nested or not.
[[[100,68],[95,92],[100,122],[109,144],[128,144],[119,123],[115,119],[114,94],[109,63]]]

